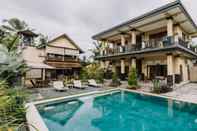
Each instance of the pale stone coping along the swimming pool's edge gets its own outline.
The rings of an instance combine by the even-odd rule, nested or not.
[[[27,103],[26,104],[26,107],[27,107],[26,118],[29,115],[31,116],[31,114],[34,114],[34,113],[35,113],[35,116],[37,115],[37,118],[33,119],[33,120],[27,118],[27,122],[30,125],[34,125],[34,123],[37,123],[37,124],[39,123],[38,125],[34,125],[34,126],[42,128],[42,131],[49,131],[49,129],[46,126],[43,118],[40,116],[40,113],[38,112],[38,109],[36,108],[36,105],[40,105],[40,104],[44,104],[44,103],[50,103],[50,102],[57,102],[57,101],[61,101],[61,100],[64,100],[64,99],[73,99],[73,98],[78,98],[78,97],[82,97],[82,96],[94,95],[94,94],[103,94],[103,93],[118,91],[118,90],[128,91],[128,92],[143,94],[143,95],[148,95],[148,96],[154,96],[154,97],[159,97],[159,98],[165,98],[165,99],[170,99],[170,100],[174,100],[174,101],[181,101],[181,102],[186,102],[186,103],[191,103],[191,104],[196,104],[197,105],[197,102],[188,101],[188,100],[175,98],[175,97],[171,97],[171,96],[166,96],[164,94],[154,94],[154,93],[148,93],[148,92],[138,91],[138,90],[131,90],[131,89],[126,89],[126,88],[115,88],[115,89],[86,92],[86,93],[80,93],[80,94],[75,94],[75,95],[69,95],[69,96],[64,96],[64,97],[51,98],[51,99],[46,99],[46,100]],[[30,129],[30,131],[37,131],[35,129],[32,130],[32,127],[30,127],[30,126],[29,126],[29,129]]]

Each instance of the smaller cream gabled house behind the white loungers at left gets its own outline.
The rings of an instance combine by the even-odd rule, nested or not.
[[[79,55],[83,53],[66,34],[49,41],[46,45],[35,46],[37,34],[31,31],[20,32],[22,56],[30,70],[26,80],[48,83],[65,76],[77,77],[81,68]]]

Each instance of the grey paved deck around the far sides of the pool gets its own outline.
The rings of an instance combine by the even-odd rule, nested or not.
[[[140,83],[140,85],[142,86],[142,88],[136,90],[137,92],[150,93],[150,83]],[[122,82],[122,85],[119,86],[118,88],[126,88],[126,87],[127,87],[127,82]],[[94,91],[104,91],[104,90],[110,90],[115,88],[117,87],[109,87],[108,83],[105,83],[102,88],[95,88],[95,87],[88,87],[86,89],[71,88],[65,92],[55,91],[55,89],[52,87],[27,89],[27,91],[30,94],[28,102],[46,100],[46,99],[52,99],[58,97],[66,97],[66,96],[94,92]],[[160,95],[197,103],[197,83],[188,83],[174,89],[172,92],[160,94]]]

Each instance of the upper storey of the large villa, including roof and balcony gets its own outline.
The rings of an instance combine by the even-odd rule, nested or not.
[[[178,49],[197,57],[193,38],[197,26],[180,1],[103,31],[95,36],[101,44],[97,58]]]

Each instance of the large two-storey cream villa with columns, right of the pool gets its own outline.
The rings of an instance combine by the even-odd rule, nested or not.
[[[126,79],[133,67],[141,80],[163,78],[169,85],[190,81],[197,50],[197,26],[180,1],[105,30],[92,38],[101,44],[96,59]]]

